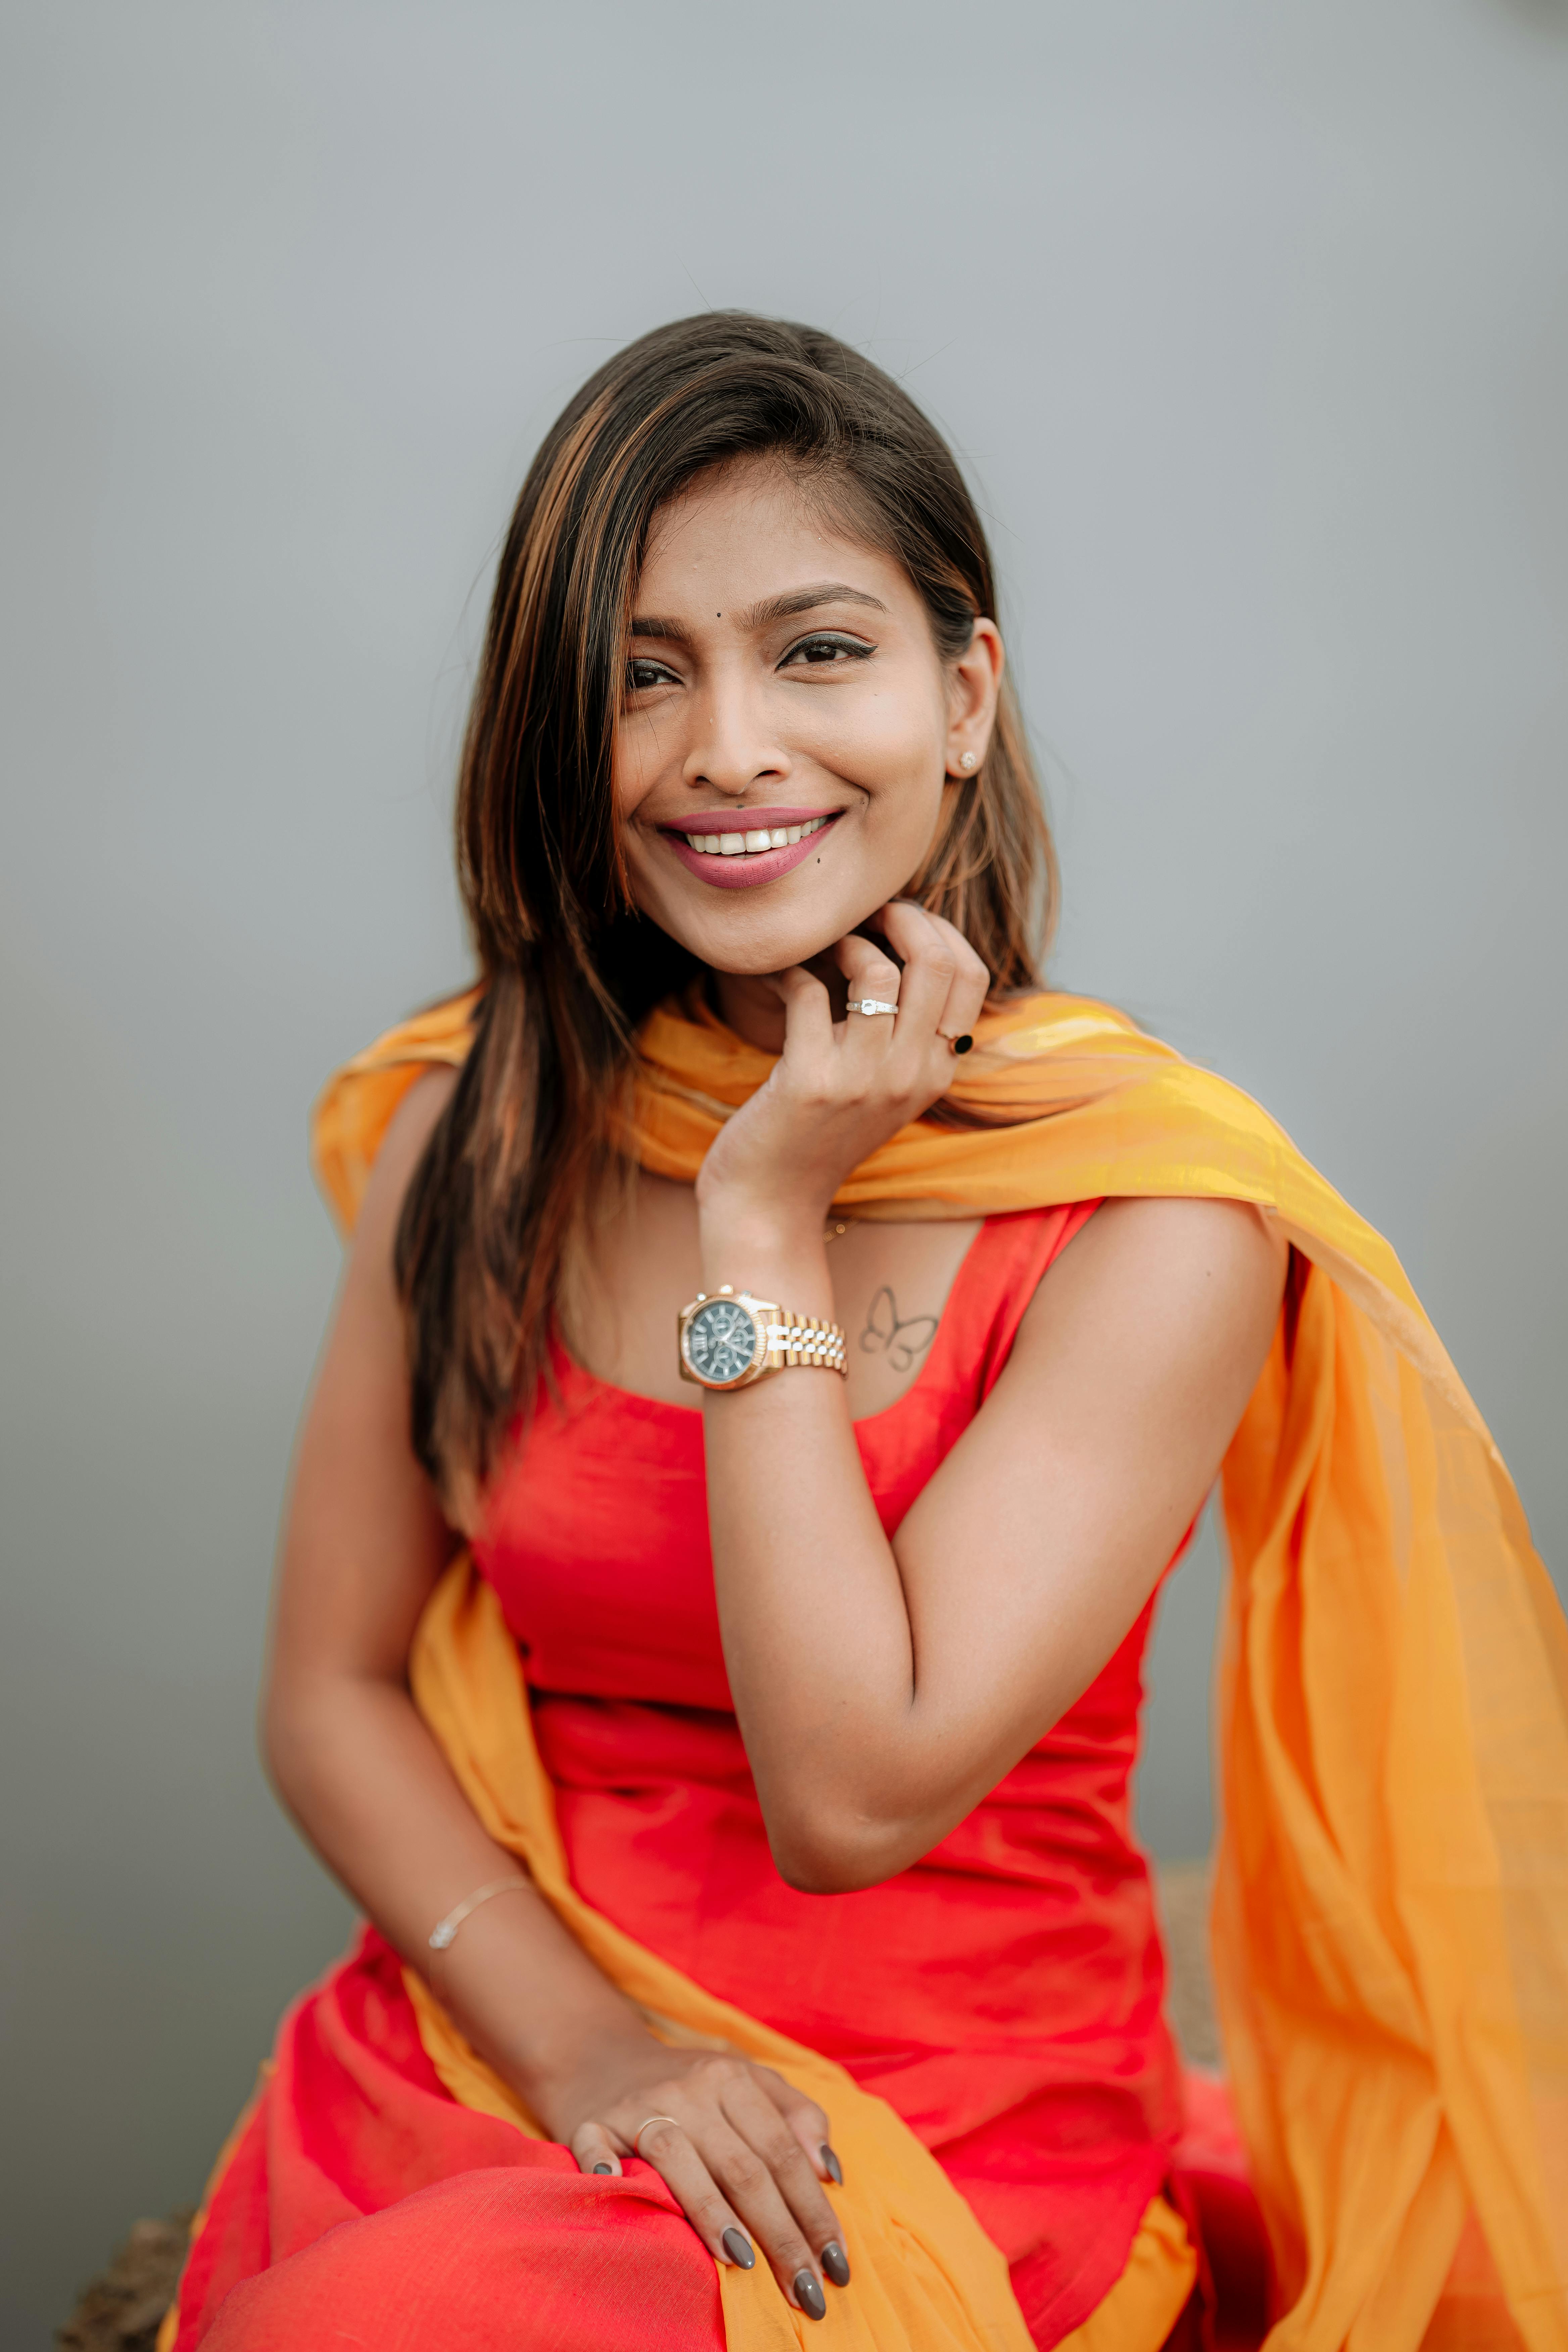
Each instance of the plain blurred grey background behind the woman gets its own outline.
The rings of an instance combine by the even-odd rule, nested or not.
[[[656,320],[994,520],[1056,960],[1401,1249],[1568,1562],[1568,26],[1502,0],[0,12],[0,2338],[200,2192],[348,1912],[252,1700],[320,1077],[465,971],[505,508]],[[1208,1839],[1208,1545],[1143,1820]]]

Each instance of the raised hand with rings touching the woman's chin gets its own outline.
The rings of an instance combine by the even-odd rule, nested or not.
[[[705,1221],[717,1211],[726,1223],[820,1230],[851,1169],[950,1089],[952,1040],[980,1018],[990,974],[950,922],[907,898],[875,922],[903,971],[858,931],[830,953],[851,1000],[896,1011],[835,1021],[827,988],[804,964],[773,974],[785,1004],[783,1056],[703,1162],[696,1197]]]

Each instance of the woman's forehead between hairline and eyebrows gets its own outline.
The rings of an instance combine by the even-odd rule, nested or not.
[[[654,515],[637,602],[717,616],[839,579],[889,607],[919,604],[903,564],[856,529],[846,506],[769,459],[698,475]]]

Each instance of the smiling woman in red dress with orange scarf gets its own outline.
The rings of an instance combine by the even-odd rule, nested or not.
[[[889,379],[752,318],[599,369],[458,851],[480,988],[320,1112],[263,1717],[371,1924],[165,2343],[1197,2340],[1128,1771],[1222,1461],[1279,2340],[1568,2343],[1561,1618],[1392,1254],[1041,997],[985,536]]]

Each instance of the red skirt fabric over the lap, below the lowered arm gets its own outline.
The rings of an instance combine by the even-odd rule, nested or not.
[[[176,2352],[722,2352],[717,2270],[665,2183],[461,2107],[378,1936],[284,2018],[209,2185]]]

